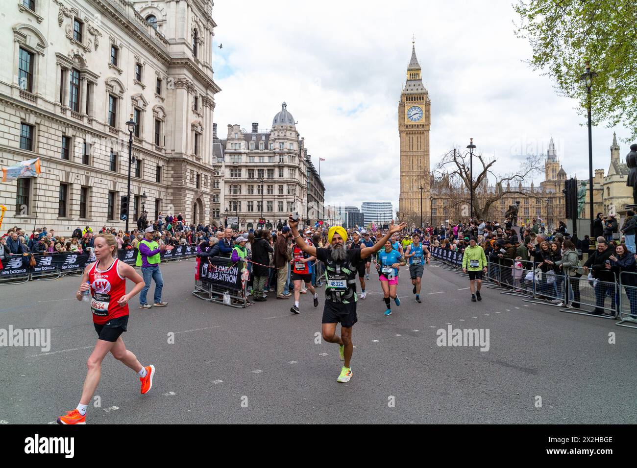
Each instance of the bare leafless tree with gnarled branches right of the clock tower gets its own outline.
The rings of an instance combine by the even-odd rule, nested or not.
[[[530,155],[520,165],[517,172],[499,175],[494,172],[497,159],[473,154],[473,181],[469,153],[457,148],[445,154],[431,175],[433,183],[431,191],[438,197],[445,197],[447,209],[451,213],[459,211],[462,218],[471,216],[469,204],[473,190],[473,216],[488,219],[493,205],[505,195],[519,194],[525,197],[541,197],[529,188],[520,187],[520,183],[542,169],[542,157]],[[489,185],[489,178],[495,185]],[[517,188],[512,188],[517,187]]]

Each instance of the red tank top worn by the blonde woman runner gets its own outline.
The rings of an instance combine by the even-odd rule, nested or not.
[[[126,294],[126,279],[117,271],[118,259],[113,260],[110,268],[105,271],[97,269],[95,262],[89,271],[90,283],[90,310],[93,313],[93,323],[104,323],[117,317],[128,315],[128,304],[124,307],[117,301]]]

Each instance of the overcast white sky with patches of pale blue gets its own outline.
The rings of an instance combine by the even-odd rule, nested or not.
[[[497,173],[510,173],[552,136],[568,176],[588,178],[585,121],[524,63],[531,48],[513,34],[511,0],[215,0],[213,18],[220,138],[228,124],[271,128],[285,101],[315,166],[326,159],[326,204],[398,209],[397,108],[412,34],[431,97],[431,169],[473,137]],[[608,171],[612,138],[613,129],[593,128],[594,169]],[[629,148],[620,148],[623,159]]]

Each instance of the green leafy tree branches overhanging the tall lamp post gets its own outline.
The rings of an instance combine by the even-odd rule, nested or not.
[[[580,103],[586,62],[598,73],[592,85],[592,123],[624,125],[637,138],[637,2],[634,0],[519,0],[516,34],[529,40],[534,70],[554,80],[561,96]]]

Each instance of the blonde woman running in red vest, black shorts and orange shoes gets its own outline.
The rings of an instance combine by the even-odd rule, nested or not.
[[[75,297],[82,301],[82,293],[90,290],[90,309],[99,337],[87,362],[89,370],[80,404],[73,411],[57,418],[58,424],[86,423],[86,409],[99,383],[102,361],[109,352],[140,375],[142,394],[147,393],[153,385],[155,366],[143,367],[135,355],[126,349],[120,336],[126,331],[128,323],[128,302],[144,287],[144,280],[133,267],[117,259],[117,240],[112,234],[99,234],[95,238],[94,249],[97,262],[84,269],[82,284]],[[129,294],[126,294],[126,278],[135,283]]]

